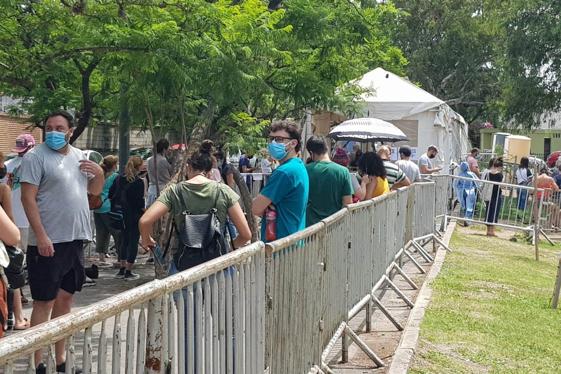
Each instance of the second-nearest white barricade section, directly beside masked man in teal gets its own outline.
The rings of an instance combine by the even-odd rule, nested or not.
[[[265,366],[304,373],[321,361],[325,223],[266,244]]]

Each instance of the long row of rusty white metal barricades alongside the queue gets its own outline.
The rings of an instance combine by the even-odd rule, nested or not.
[[[421,272],[412,253],[430,261],[413,242],[434,236],[434,194],[434,182],[415,183],[8,336],[0,365],[32,372],[34,350],[47,347],[53,370],[54,343],[66,338],[67,368],[86,373],[325,373],[342,338],[343,361],[352,341],[383,366],[348,321],[366,308],[369,331],[375,305],[402,329],[375,292],[387,285],[412,306],[392,272],[414,287],[402,261]]]

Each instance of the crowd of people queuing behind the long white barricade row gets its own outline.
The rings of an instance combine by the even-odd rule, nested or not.
[[[440,170],[432,165],[438,153],[435,146],[420,157],[419,165],[410,160],[411,148],[403,146],[401,160],[393,163],[387,146],[377,152],[362,152],[355,146],[350,154],[338,148],[330,157],[327,140],[318,135],[306,142],[310,158],[304,163],[298,157],[304,146],[300,126],[290,120],[275,121],[260,167],[251,165],[250,153],[240,159],[240,172],[270,173],[266,183],[261,175],[251,212],[244,212],[234,191],[234,166],[213,142],[205,140],[190,155],[186,180],[168,185],[174,171],[166,139],[157,142],[154,155],[146,160],[146,171],[142,159],[131,156],[125,170],[118,172],[117,156],[105,156],[98,165],[71,146],[74,123],[66,112],[49,114],[44,121],[44,143],[36,144],[31,135],[22,134],[13,150],[18,157],[5,165],[0,157],[0,172],[6,174],[0,175],[4,177],[0,240],[25,250],[34,300],[30,321],[22,316],[21,304],[15,305],[16,329],[70,312],[75,292],[88,282],[84,243],[92,240],[90,210],[98,264],[112,267],[107,256],[113,237],[120,265],[114,277],[134,280],[139,278],[133,271],[139,240],[141,250],[150,253],[148,263],[164,260],[165,251],[172,251],[171,275],[246,245],[251,239],[246,214],[261,217],[261,240],[280,239],[320,222],[344,205],[418,182],[421,172]],[[356,175],[349,166],[357,168]],[[153,232],[155,222],[167,213],[173,216],[173,230],[168,243],[162,244],[162,254]],[[22,296],[16,299],[21,301]],[[57,372],[65,372],[65,339],[56,343],[55,358]],[[46,371],[42,350],[35,352],[35,364],[36,373]],[[76,373],[80,372],[77,368]]]

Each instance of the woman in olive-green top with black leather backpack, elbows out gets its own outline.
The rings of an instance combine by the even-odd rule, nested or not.
[[[226,233],[227,217],[232,220],[238,231],[238,235],[232,240],[234,248],[245,245],[251,239],[251,231],[238,202],[240,197],[226,184],[209,179],[213,167],[212,151],[213,142],[203,141],[201,148],[188,161],[188,180],[165,189],[140,219],[142,247],[153,248],[155,241],[151,235],[154,222],[168,212],[173,214],[176,227],[174,230],[181,233],[181,238],[178,248],[172,248],[174,261],[169,269],[169,275],[198,265],[201,261],[226,254],[229,249],[224,248],[227,244],[223,238]],[[183,214],[183,212],[187,212],[187,214]],[[218,219],[222,235],[219,233],[219,238],[214,237],[218,242],[213,245],[213,248],[191,250],[190,239],[183,233],[187,233],[188,230],[201,230],[201,228],[195,227],[197,225],[196,217],[203,217],[211,213],[215,214]],[[214,233],[209,235],[214,236]],[[203,240],[210,242],[210,238]]]

